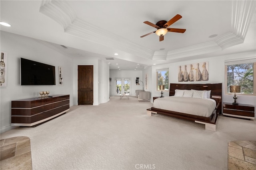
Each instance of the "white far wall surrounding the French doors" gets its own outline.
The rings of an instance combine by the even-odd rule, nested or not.
[[[109,76],[111,78],[110,82],[110,96],[116,95],[116,81],[115,78],[131,78],[130,84],[130,96],[136,96],[135,90],[142,90],[143,86],[140,82],[140,85],[136,85],[136,77],[139,77],[144,83],[145,90],[145,79],[142,78],[142,70],[110,70]]]

